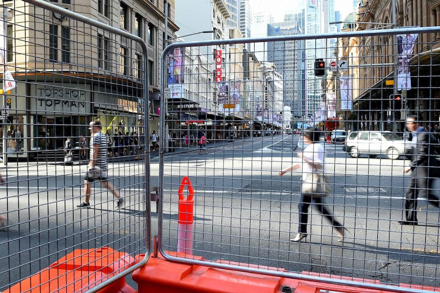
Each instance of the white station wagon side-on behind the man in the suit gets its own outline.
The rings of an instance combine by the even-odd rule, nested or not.
[[[385,154],[390,159],[397,159],[411,153],[411,144],[391,131],[353,131],[347,136],[345,151],[352,157]]]

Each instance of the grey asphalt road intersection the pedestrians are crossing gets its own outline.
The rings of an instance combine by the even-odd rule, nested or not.
[[[407,180],[404,159],[355,159],[341,145],[326,144],[326,172],[334,194],[324,201],[348,229],[345,241],[338,242],[331,226],[313,209],[307,243],[289,242],[298,227],[301,173],[277,173],[297,160],[298,139],[279,135],[211,142],[207,155],[193,148],[167,153],[160,227],[164,249],[177,250],[177,190],[182,177],[188,176],[195,200],[194,255],[439,287],[438,210],[420,199],[419,226],[397,223]],[[8,185],[0,188],[10,225],[0,231],[0,291],[73,249],[110,246],[131,255],[143,252],[144,163],[111,164],[110,177],[127,200],[126,208],[117,211],[111,194],[98,186],[92,208],[75,207],[82,200],[84,169],[85,165],[8,165]],[[156,153],[150,175],[151,185],[158,185]],[[438,193],[437,182],[434,192]],[[152,215],[155,235],[155,203]]]

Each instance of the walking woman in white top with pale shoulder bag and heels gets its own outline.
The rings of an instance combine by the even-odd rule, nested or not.
[[[302,178],[304,181],[310,173],[322,172],[324,173],[324,146],[319,143],[320,131],[317,128],[309,127],[303,134],[304,144],[307,147],[303,153],[298,153],[298,157],[302,159],[302,163],[294,164],[288,168],[281,170],[278,175],[282,176],[288,171],[296,170],[302,167]],[[299,209],[299,226],[298,234],[295,238],[290,239],[292,242],[301,242],[307,237],[307,218],[308,209],[311,203],[314,203],[321,214],[327,218],[333,225],[336,234],[339,236],[338,241],[344,240],[344,226],[336,221],[328,208],[323,204],[322,197],[313,197],[310,194],[301,193],[301,201],[298,204]],[[307,240],[307,239],[306,239]]]

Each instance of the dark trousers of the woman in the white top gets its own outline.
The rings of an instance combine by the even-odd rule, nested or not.
[[[330,223],[335,227],[344,227],[341,223],[336,221],[328,210],[328,208],[323,204],[323,199],[320,197],[310,197],[301,194],[301,201],[298,203],[298,210],[300,212],[300,223],[298,226],[298,232],[302,234],[307,233],[307,219],[308,219],[308,209],[311,203],[314,203],[321,214],[330,221]]]

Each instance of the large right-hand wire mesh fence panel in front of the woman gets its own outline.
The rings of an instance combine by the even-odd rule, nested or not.
[[[173,44],[163,59],[163,251],[205,265],[438,289],[438,182],[427,185],[422,167],[404,173],[419,147],[410,115],[431,132],[424,159],[436,162],[437,29]],[[320,61],[324,77],[315,76]],[[313,150],[309,127],[320,134]],[[307,209],[304,170],[322,154],[331,192],[326,208],[317,199]],[[193,221],[181,218],[191,212],[185,176]],[[405,201],[409,191],[418,200]],[[406,225],[411,212],[418,225]]]

